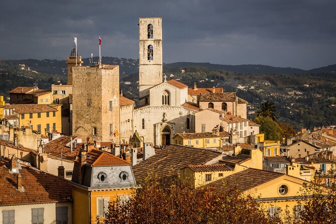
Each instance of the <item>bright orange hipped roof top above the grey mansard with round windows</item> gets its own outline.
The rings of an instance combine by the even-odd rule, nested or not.
[[[76,160],[78,162],[78,159]],[[88,166],[123,166],[131,165],[129,162],[112,155],[111,153],[92,149],[86,153],[84,165]]]

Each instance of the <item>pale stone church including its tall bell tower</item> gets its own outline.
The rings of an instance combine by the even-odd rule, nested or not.
[[[144,142],[166,146],[176,133],[195,132],[195,103],[188,86],[162,76],[162,18],[139,18],[139,106],[134,131]]]

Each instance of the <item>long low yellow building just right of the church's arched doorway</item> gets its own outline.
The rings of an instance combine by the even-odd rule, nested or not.
[[[177,133],[173,137],[173,143],[195,148],[221,148],[228,143],[230,134],[227,132],[204,132],[204,133]]]

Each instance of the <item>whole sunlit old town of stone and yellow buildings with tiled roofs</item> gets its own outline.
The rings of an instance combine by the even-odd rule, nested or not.
[[[308,84],[276,95],[267,80],[236,83],[239,91],[217,84],[220,78],[184,83],[190,70],[163,72],[162,44],[162,18],[139,18],[139,61],[84,65],[76,48],[69,49],[67,69],[58,71],[67,73],[66,84],[16,86],[8,98],[0,96],[4,223],[103,223],[109,203],[132,201],[151,175],[178,178],[192,189],[215,192],[226,184],[253,192],[267,217],[279,220],[281,211],[301,217],[306,185],[323,192],[334,186],[334,126],[269,139],[249,117],[260,103],[244,98],[259,91],[284,101],[307,99]],[[138,81],[122,79],[126,64],[138,69]],[[24,64],[20,69],[37,73]],[[127,97],[132,92],[121,85],[139,97]],[[300,113],[286,106],[293,116]]]

